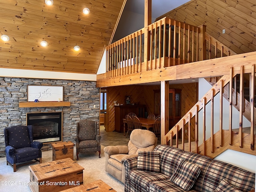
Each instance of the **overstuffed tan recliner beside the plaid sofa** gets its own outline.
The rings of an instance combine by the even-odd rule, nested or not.
[[[139,151],[153,151],[156,145],[157,137],[153,132],[142,129],[133,130],[128,146],[106,146],[104,148],[106,172],[125,183],[124,160],[138,156]]]

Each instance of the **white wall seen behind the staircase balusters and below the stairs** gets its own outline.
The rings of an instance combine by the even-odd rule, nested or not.
[[[198,98],[201,99],[204,94],[208,90],[210,90],[212,86],[204,79],[200,78],[198,80]],[[219,105],[219,94],[214,97],[214,133],[217,132],[220,128],[220,118],[219,118],[219,112],[220,112],[220,105]],[[210,104],[206,105],[206,139],[210,138]],[[233,107],[233,117],[239,117],[239,112],[236,110],[236,108]],[[232,126],[233,128],[239,128],[239,118],[232,118]],[[202,111],[199,113],[198,117],[198,144],[202,144]],[[226,99],[223,99],[223,129],[229,128],[229,102]],[[243,127],[250,127],[250,122],[243,118]],[[238,166],[240,168],[243,168],[245,170],[248,170],[250,172],[256,172],[256,156],[250,155],[234,150],[226,150],[222,154],[218,155],[216,160],[220,160],[226,163],[230,163],[234,166]]]

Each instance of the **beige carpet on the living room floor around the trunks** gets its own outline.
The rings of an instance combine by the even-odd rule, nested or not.
[[[124,192],[124,184],[105,171],[103,148],[104,146],[101,146],[101,158],[98,158],[98,152],[92,154],[79,154],[78,161],[76,161],[76,152],[74,148],[75,162],[84,167],[84,184],[101,179],[117,192]],[[52,150],[42,152],[43,163],[51,160]],[[30,187],[28,186],[28,182],[30,181],[28,166],[30,165],[17,167],[17,171],[13,172],[12,167],[6,165],[6,158],[0,158],[0,191],[31,192]]]

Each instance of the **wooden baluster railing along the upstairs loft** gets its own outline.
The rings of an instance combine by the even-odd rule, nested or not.
[[[200,35],[199,27],[170,18],[154,22],[106,47],[106,77],[202,60]]]

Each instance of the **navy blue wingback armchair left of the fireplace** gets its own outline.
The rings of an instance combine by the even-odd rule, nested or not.
[[[17,125],[4,128],[4,140],[6,163],[13,167],[13,172],[16,172],[18,163],[31,160],[42,163],[41,148],[43,144],[33,141],[32,126]]]

